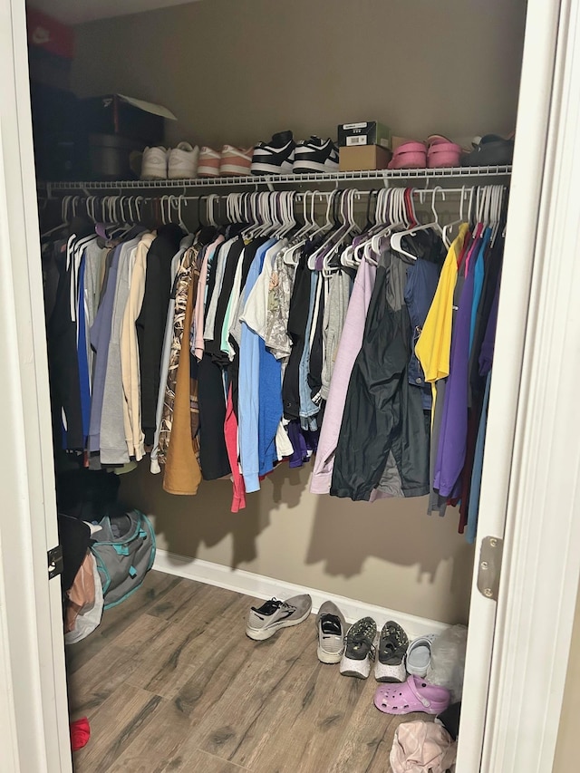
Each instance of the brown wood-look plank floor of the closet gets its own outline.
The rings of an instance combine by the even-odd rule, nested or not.
[[[316,658],[315,618],[266,642],[245,635],[252,600],[150,572],[67,648],[71,719],[91,740],[75,773],[391,773],[401,721],[376,681]]]

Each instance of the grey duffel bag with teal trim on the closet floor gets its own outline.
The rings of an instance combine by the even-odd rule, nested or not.
[[[139,510],[107,516],[93,534],[91,550],[101,576],[104,609],[121,604],[134,593],[155,560],[155,533]]]

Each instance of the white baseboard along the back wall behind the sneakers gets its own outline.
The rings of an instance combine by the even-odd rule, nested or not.
[[[219,588],[227,588],[229,591],[236,591],[238,594],[246,594],[259,599],[272,598],[273,596],[285,599],[296,594],[310,594],[314,613],[318,612],[324,601],[333,601],[349,623],[354,623],[355,620],[368,615],[376,621],[380,630],[387,620],[396,620],[411,639],[424,633],[441,633],[449,627],[446,623],[439,623],[426,617],[417,617],[414,614],[385,609],[376,604],[367,604],[363,601],[346,598],[346,596],[329,594],[316,588],[304,587],[304,585],[286,583],[284,580],[256,575],[244,569],[231,569],[229,566],[203,561],[200,558],[179,556],[176,553],[169,553],[167,550],[158,549],[153,568],[168,575],[185,577],[188,580],[195,580],[207,585],[217,585]]]

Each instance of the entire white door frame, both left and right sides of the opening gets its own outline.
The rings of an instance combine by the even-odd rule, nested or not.
[[[507,531],[483,746],[485,773],[547,773],[550,769],[580,569],[580,524],[573,517],[575,490],[570,485],[577,479],[580,459],[574,414],[580,382],[580,302],[575,304],[570,292],[572,288],[580,298],[580,264],[575,262],[580,236],[568,227],[566,239],[562,238],[564,223],[580,222],[580,202],[573,188],[575,179],[580,179],[580,159],[573,153],[580,115],[580,72],[574,58],[574,43],[580,51],[579,2],[562,0],[552,102],[550,68],[558,4],[528,3],[527,59],[506,252],[527,256],[527,263],[514,264],[520,269],[529,267],[533,256],[534,272],[517,275],[508,268],[503,276],[501,333],[489,411],[488,444],[494,443],[494,454],[487,455],[484,466],[481,523],[489,525],[489,510],[495,512],[497,506],[505,514],[507,507]],[[14,763],[6,761],[5,767],[0,756],[0,767],[66,773],[71,759],[60,589],[57,581],[46,580],[46,549],[56,544],[56,518],[24,2],[0,0],[0,9],[0,155],[5,165],[0,174],[4,183],[0,184],[0,362],[5,368],[0,405],[8,440],[0,451],[4,506],[0,508],[0,687],[13,686],[2,691],[5,696],[0,698],[0,718],[8,720],[3,730],[9,729],[13,743],[0,754]],[[527,139],[520,139],[522,135]],[[543,158],[544,148],[543,174],[527,175],[528,159]],[[536,155],[527,157],[530,151]],[[526,320],[525,315],[514,313],[510,299],[521,304],[525,294],[517,283],[529,285],[529,277]],[[507,292],[509,286],[513,297]],[[478,541],[481,536],[483,531]],[[479,606],[480,617],[478,604],[474,596],[464,717],[473,716],[471,677],[478,674],[473,642],[481,630],[480,620],[489,614]],[[476,681],[481,681],[480,674]],[[458,773],[479,769],[478,760],[474,765],[465,755],[474,750],[478,755],[481,743],[473,743],[474,737],[469,742],[467,736],[469,722],[462,729]]]

